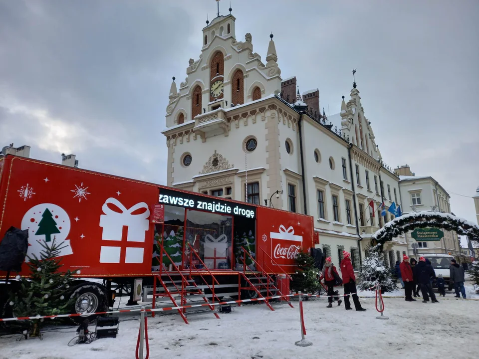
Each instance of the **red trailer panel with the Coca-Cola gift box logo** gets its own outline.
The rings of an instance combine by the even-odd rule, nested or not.
[[[257,218],[259,263],[268,272],[293,273],[296,254],[314,246],[313,217],[260,206]]]

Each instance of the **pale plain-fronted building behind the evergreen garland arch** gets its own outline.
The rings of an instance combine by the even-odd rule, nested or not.
[[[409,171],[409,167],[400,168],[409,172],[409,176],[400,176],[401,197],[403,199],[403,214],[424,210],[436,210],[443,213],[451,213],[450,195],[432,177],[416,177]],[[419,254],[421,253],[451,253],[459,255],[461,248],[458,235],[455,231],[443,230],[444,238],[441,241],[418,242]],[[406,234],[409,254],[413,254],[412,243],[416,240],[410,233]]]

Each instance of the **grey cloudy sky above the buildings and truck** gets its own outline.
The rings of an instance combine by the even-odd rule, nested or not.
[[[227,14],[229,2],[220,2]],[[479,1],[232,0],[239,40],[283,78],[318,87],[326,113],[351,70],[385,161],[409,164],[476,221],[479,185]],[[166,181],[171,77],[197,59],[214,0],[0,0],[0,147],[157,183]],[[460,196],[458,194],[466,195]]]

